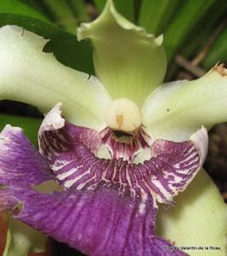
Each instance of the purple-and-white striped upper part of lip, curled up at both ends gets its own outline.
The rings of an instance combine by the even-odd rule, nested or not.
[[[151,196],[155,201],[171,203],[200,170],[207,154],[207,131],[202,127],[190,140],[174,143],[156,140],[149,146],[140,130],[132,143],[116,142],[111,130],[98,132],[65,123],[61,106],[56,105],[43,120],[39,131],[40,152],[65,188],[94,189],[98,183],[114,183],[119,194]],[[111,159],[95,156],[105,145]],[[150,147],[151,158],[133,164],[133,157]]]

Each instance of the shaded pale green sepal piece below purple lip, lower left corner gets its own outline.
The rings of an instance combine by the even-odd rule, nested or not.
[[[47,236],[20,221],[9,218],[7,243],[3,256],[27,256],[29,253],[43,253]]]

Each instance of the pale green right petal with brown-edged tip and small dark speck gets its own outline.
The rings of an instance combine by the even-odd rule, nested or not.
[[[194,81],[162,84],[142,108],[143,124],[153,138],[182,141],[199,129],[227,120],[227,71],[214,67]]]

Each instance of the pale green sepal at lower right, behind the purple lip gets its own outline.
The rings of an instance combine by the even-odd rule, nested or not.
[[[175,201],[176,206],[158,212],[157,235],[177,247],[204,248],[185,250],[191,256],[226,256],[227,206],[207,173],[201,170]]]

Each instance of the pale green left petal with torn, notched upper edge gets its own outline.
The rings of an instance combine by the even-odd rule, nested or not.
[[[67,121],[103,129],[108,92],[98,79],[44,53],[46,43],[18,26],[0,28],[0,99],[26,102],[43,113],[62,102]]]

